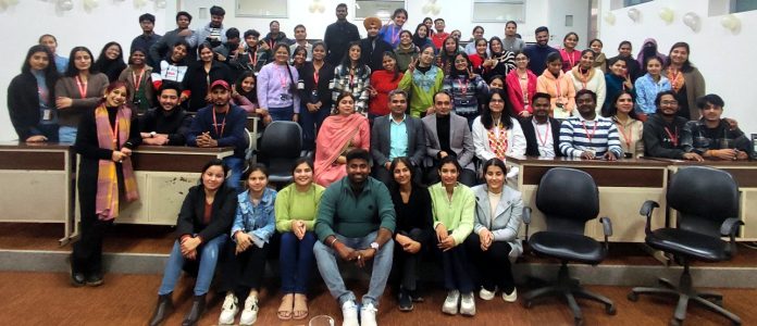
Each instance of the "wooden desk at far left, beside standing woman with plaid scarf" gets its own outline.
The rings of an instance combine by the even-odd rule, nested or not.
[[[0,142],[0,222],[63,223],[61,243],[73,231],[70,143]]]

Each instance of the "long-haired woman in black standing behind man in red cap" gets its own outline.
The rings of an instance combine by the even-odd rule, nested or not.
[[[188,112],[197,112],[208,106],[210,101],[210,85],[215,80],[226,80],[232,85],[232,71],[227,65],[213,59],[215,55],[209,43],[201,43],[197,47],[200,60],[189,66],[187,75],[182,83],[182,101],[189,100]]]

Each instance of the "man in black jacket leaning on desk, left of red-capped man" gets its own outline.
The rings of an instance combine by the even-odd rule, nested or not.
[[[181,86],[166,82],[158,90],[159,108],[148,110],[139,122],[144,145],[184,146],[191,116],[178,106]]]

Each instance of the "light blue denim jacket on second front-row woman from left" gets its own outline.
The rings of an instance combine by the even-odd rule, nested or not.
[[[255,246],[262,248],[269,242],[276,227],[273,203],[276,200],[276,190],[265,188],[260,203],[255,205],[250,201],[250,190],[237,196],[237,211],[232,226],[232,239],[236,231],[252,235]],[[235,239],[236,240],[236,239]]]

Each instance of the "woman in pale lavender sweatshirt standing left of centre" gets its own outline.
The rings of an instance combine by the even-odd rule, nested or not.
[[[299,75],[289,66],[289,47],[278,43],[273,48],[274,61],[258,73],[258,105],[268,111],[272,121],[299,118],[300,97],[296,91]]]

